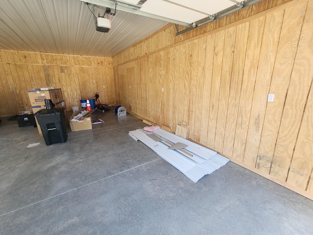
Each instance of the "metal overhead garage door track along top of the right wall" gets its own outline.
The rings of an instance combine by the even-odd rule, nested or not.
[[[229,8],[227,8],[227,9],[223,10],[223,11],[220,11],[220,12],[218,12],[218,13],[216,13],[216,14],[213,14],[213,15],[211,15],[211,16],[209,16],[209,17],[206,17],[206,18],[204,18],[204,19],[201,19],[200,21],[197,21],[197,22],[192,23],[192,24],[191,24],[191,25],[192,25],[191,27],[186,28],[186,29],[184,29],[184,30],[181,30],[181,31],[177,32],[177,33],[176,33],[176,36],[178,36],[179,34],[188,32],[188,31],[190,31],[190,30],[192,30],[192,29],[194,29],[194,28],[196,28],[196,27],[199,27],[199,26],[201,26],[201,25],[203,25],[203,24],[208,24],[208,23],[210,23],[210,22],[212,22],[212,21],[215,21],[215,20],[217,20],[217,19],[220,19],[220,18],[222,18],[222,17],[224,17],[224,16],[227,16],[227,15],[229,15],[229,14],[235,12],[235,11],[239,11],[240,9],[243,9],[243,8],[245,8],[245,7],[247,7],[247,6],[250,6],[250,5],[254,4],[254,3],[257,3],[257,2],[259,2],[259,1],[262,1],[262,0],[244,0],[244,1],[241,1],[241,2],[239,2],[239,3],[237,3],[237,4],[235,4],[235,5],[231,6],[231,7],[229,7]]]

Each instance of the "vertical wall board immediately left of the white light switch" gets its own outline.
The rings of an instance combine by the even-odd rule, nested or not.
[[[244,163],[255,167],[283,12],[267,16],[252,99]]]

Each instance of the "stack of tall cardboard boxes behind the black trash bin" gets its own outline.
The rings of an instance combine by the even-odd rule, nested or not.
[[[51,99],[52,103],[54,104],[54,108],[60,108],[65,106],[61,88],[48,90],[35,89],[33,91],[28,91],[27,93],[34,114],[41,109],[45,109],[45,99]],[[43,136],[37,119],[36,123],[39,135]]]

